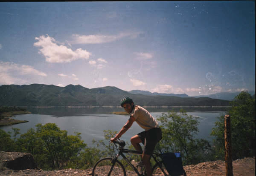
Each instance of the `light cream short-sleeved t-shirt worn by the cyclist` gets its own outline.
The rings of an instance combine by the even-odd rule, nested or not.
[[[131,111],[130,116],[134,116],[137,124],[140,125],[141,128],[145,129],[145,131],[152,128],[159,128],[159,125],[154,117],[141,106],[135,106]]]

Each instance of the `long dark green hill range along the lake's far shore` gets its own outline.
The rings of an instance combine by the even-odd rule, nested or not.
[[[84,88],[81,85],[1,85],[0,105],[6,106],[119,106],[131,97],[142,106],[226,106],[229,101],[211,98],[148,96],[131,94],[116,87]]]

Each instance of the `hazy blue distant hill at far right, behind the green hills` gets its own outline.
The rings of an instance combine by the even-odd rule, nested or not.
[[[198,98],[198,97],[209,97],[209,98],[224,99],[224,100],[232,101],[240,93],[241,92],[233,92],[233,93],[221,92],[221,93],[217,93],[217,94],[199,95],[199,96],[192,96],[192,97],[195,97],[195,98]],[[255,94],[255,91],[249,91],[248,93],[251,96],[253,96]]]

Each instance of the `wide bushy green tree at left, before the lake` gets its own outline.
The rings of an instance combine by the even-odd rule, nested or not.
[[[20,135],[17,144],[20,151],[32,153],[39,167],[44,169],[63,169],[86,148],[81,133],[67,135],[54,123],[37,124]]]

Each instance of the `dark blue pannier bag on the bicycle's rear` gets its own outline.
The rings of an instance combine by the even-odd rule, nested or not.
[[[161,153],[163,165],[166,167],[170,176],[181,176],[183,173],[183,166],[180,153]]]

